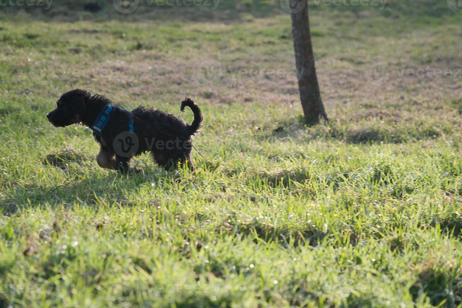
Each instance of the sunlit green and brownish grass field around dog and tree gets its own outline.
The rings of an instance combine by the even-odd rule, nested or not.
[[[462,73],[399,75],[456,72],[460,16],[313,8],[330,121],[306,127],[290,16],[245,3],[211,21],[0,13],[0,306],[461,307]],[[363,75],[376,58],[390,71],[377,86]],[[215,85],[196,75],[208,59]],[[196,175],[147,156],[144,175],[100,169],[89,129],[45,117],[76,87],[175,114],[193,97]]]

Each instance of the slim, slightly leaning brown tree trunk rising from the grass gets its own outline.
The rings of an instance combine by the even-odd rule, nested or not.
[[[288,0],[292,17],[293,47],[297,65],[298,89],[305,121],[309,125],[319,122],[320,116],[328,121],[321,91],[316,77],[315,58],[311,43],[307,0]]]

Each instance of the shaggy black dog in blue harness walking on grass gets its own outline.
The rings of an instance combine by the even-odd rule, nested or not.
[[[151,151],[153,159],[167,171],[178,163],[195,169],[191,163],[191,136],[199,132],[202,114],[190,98],[182,101],[180,110],[188,106],[193,111],[191,124],[170,113],[142,106],[130,112],[114,106],[107,97],[81,89],[64,93],[56,105],[47,115],[48,120],[55,127],[77,123],[90,127],[101,145],[97,163],[102,168],[125,173],[133,156]],[[141,169],[134,167],[134,171]]]

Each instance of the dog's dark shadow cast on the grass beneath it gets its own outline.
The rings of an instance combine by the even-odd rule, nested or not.
[[[134,205],[128,199],[134,190],[142,184],[157,182],[161,177],[167,181],[177,181],[179,174],[167,174],[155,167],[146,166],[145,174],[129,173],[122,175],[115,170],[84,169],[88,159],[85,155],[72,151],[54,152],[43,158],[46,168],[57,168],[66,180],[55,187],[31,182],[28,185],[16,185],[14,195],[6,199],[2,206],[2,215],[12,216],[20,209],[47,205],[73,206],[75,203],[97,206],[99,204],[119,203],[122,206]],[[152,168],[150,168],[152,167]],[[123,187],[114,186],[122,180]],[[117,184],[116,184],[117,185]],[[116,192],[114,192],[116,190]],[[117,198],[111,198],[111,191]]]

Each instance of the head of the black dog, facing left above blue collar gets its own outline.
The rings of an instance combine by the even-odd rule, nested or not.
[[[91,93],[82,89],[64,93],[56,102],[56,109],[47,115],[48,121],[55,127],[79,123],[85,115],[85,100],[90,97]]]

